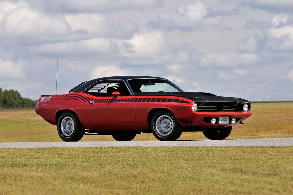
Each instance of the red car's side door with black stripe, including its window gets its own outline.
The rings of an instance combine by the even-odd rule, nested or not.
[[[120,95],[113,96],[114,91]],[[86,114],[92,126],[137,126],[135,96],[130,95],[124,81],[99,81],[86,93],[94,96],[94,100],[86,105]]]

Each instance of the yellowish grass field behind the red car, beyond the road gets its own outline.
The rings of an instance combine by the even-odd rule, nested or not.
[[[252,103],[252,116],[245,125],[235,126],[228,137],[293,137],[293,102]],[[201,132],[183,132],[178,140],[206,139]],[[141,134],[134,141],[156,140],[152,134]],[[0,142],[62,141],[57,126],[38,116],[33,108],[0,109]],[[84,136],[81,141],[114,141],[112,136]]]

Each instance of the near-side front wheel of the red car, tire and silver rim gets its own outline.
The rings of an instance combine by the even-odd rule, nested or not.
[[[154,115],[151,131],[160,141],[174,141],[182,134],[174,114],[169,110],[161,110]]]

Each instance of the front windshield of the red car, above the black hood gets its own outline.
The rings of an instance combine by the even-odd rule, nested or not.
[[[163,92],[182,92],[179,87],[170,81],[163,79],[130,79],[128,83],[134,94],[140,93],[163,93]]]

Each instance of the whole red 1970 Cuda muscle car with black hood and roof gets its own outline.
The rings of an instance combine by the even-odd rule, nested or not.
[[[172,141],[183,131],[225,139],[232,126],[251,116],[251,103],[211,93],[184,92],[164,78],[113,76],[86,81],[64,95],[42,95],[35,112],[53,125],[63,141],[84,134],[130,141],[153,133]]]

